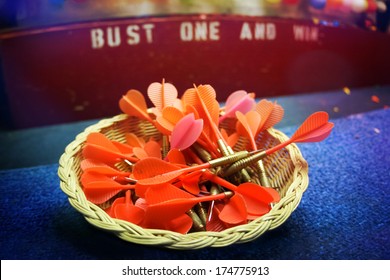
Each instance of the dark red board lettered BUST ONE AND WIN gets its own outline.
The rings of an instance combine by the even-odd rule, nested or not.
[[[390,84],[390,36],[306,20],[233,15],[127,18],[0,35],[15,128],[120,113],[151,82],[211,84],[224,101]]]

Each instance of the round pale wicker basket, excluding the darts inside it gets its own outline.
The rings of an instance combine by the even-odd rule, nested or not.
[[[112,232],[129,242],[161,246],[172,249],[199,249],[203,247],[223,247],[233,243],[252,241],[268,230],[277,228],[286,221],[300,203],[303,192],[308,186],[308,165],[298,147],[294,144],[266,157],[264,166],[281,200],[271,211],[248,224],[226,229],[222,232],[192,232],[179,234],[167,230],[144,229],[127,221],[111,218],[102,208],[89,202],[80,184],[80,162],[82,148],[87,135],[101,132],[109,139],[125,142],[125,134],[135,133],[147,138],[161,137],[160,133],[148,122],[127,115],[117,115],[104,119],[88,127],[70,143],[59,161],[58,175],[60,187],[69,198],[70,204],[92,225]],[[287,136],[275,129],[268,129],[257,139],[257,144],[267,148],[285,141]]]

